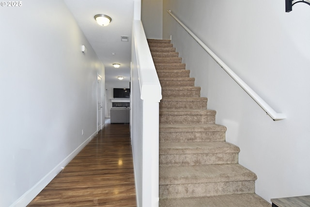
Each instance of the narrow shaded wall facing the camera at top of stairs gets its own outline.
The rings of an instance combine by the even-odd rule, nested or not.
[[[142,0],[141,21],[148,39],[162,39],[163,0]]]

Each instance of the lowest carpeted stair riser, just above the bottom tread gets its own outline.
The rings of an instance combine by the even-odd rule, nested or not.
[[[159,185],[161,199],[243,194],[254,191],[254,181]]]

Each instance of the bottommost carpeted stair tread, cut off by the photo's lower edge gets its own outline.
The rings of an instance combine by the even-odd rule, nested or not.
[[[255,193],[161,199],[160,207],[271,207]]]

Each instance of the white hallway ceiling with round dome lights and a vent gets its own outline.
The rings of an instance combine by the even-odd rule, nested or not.
[[[105,65],[106,82],[119,81],[118,76],[124,76],[123,81],[129,81],[134,0],[64,1]],[[93,18],[97,14],[110,16],[111,23],[105,27],[98,25]],[[122,42],[121,36],[129,36],[129,41]],[[113,63],[119,63],[121,67],[114,68]]]

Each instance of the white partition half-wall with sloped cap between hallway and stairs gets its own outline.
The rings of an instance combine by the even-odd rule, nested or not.
[[[140,20],[134,20],[132,31],[130,127],[137,206],[158,207],[161,86]]]

